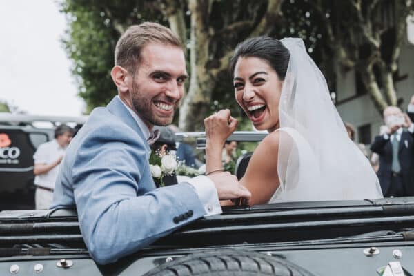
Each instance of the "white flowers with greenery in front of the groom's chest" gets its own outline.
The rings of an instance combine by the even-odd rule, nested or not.
[[[166,155],[161,155],[159,151],[151,151],[150,170],[157,186],[164,186],[164,176],[172,175],[177,166],[177,157],[174,154],[168,152]]]

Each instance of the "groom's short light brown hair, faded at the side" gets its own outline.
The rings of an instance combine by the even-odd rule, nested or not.
[[[141,61],[141,50],[148,43],[164,43],[182,48],[177,34],[159,23],[144,22],[130,26],[115,47],[115,65],[122,66],[132,75]]]

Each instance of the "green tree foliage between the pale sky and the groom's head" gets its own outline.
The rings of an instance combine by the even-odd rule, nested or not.
[[[63,45],[73,61],[72,74],[79,88],[79,96],[86,101],[88,112],[96,106],[105,106],[117,95],[110,70],[114,66],[120,26],[146,20],[159,21],[160,15],[150,12],[150,6],[144,6],[144,2],[61,2],[61,12],[66,14],[69,23]]]

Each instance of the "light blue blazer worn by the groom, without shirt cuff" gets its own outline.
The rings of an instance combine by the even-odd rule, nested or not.
[[[92,111],[66,150],[51,208],[76,206],[83,239],[99,264],[206,215],[190,184],[155,188],[149,151],[118,97]]]

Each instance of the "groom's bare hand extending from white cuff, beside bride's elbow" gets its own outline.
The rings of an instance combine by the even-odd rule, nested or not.
[[[239,184],[237,177],[231,175],[230,172],[219,172],[208,175],[208,177],[213,181],[220,200],[236,199],[239,197],[248,200],[251,197],[250,191],[242,184]]]

